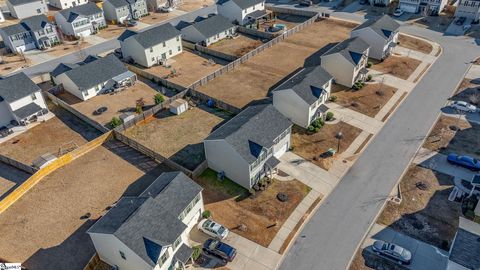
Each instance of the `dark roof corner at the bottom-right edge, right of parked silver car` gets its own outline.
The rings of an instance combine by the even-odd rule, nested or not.
[[[468,269],[480,269],[480,235],[458,229],[450,260]]]

